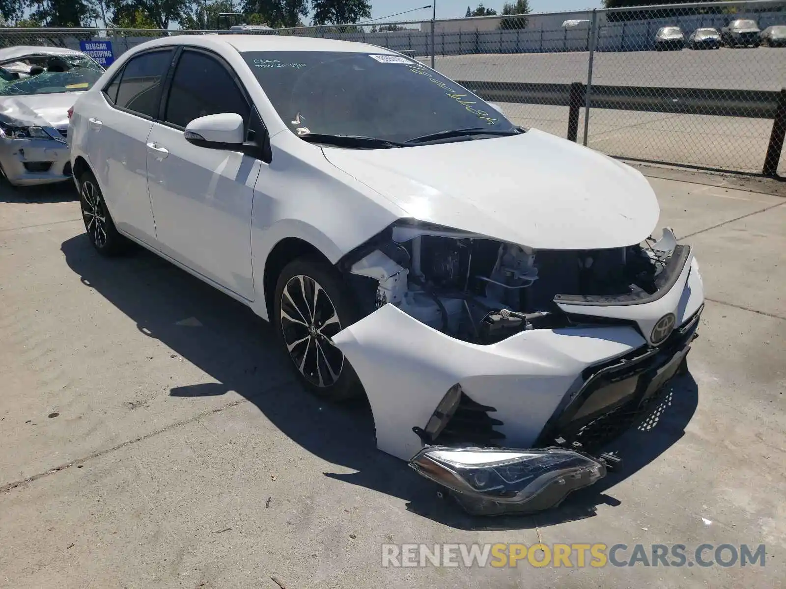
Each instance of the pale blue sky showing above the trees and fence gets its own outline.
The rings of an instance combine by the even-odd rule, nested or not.
[[[425,6],[432,0],[371,0],[372,18],[380,18],[395,13],[402,13],[410,8]],[[479,0],[436,0],[437,18],[458,18],[465,16],[467,6],[473,10]],[[567,10],[583,10],[601,8],[601,0],[530,0],[533,13],[556,13]],[[505,0],[485,0],[483,5],[501,12]],[[431,18],[432,9],[416,10],[412,13],[395,16],[390,20],[421,20]],[[387,19],[386,19],[387,20]]]

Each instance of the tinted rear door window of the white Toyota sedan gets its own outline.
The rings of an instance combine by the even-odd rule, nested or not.
[[[161,84],[167,75],[171,57],[171,49],[132,57],[123,68],[123,75],[116,90],[116,106],[153,119],[157,118],[161,101]],[[110,99],[112,84],[107,88]]]

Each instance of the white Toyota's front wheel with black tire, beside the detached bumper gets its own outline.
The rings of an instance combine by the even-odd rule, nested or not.
[[[278,341],[303,386],[327,401],[363,394],[354,368],[329,342],[360,319],[357,309],[340,273],[327,262],[298,258],[278,276],[270,317]]]

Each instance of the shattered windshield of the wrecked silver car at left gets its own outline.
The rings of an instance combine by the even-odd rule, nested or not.
[[[16,76],[0,68],[0,96],[83,92],[104,73],[100,65],[83,55],[23,57],[14,60],[13,66],[19,79],[9,79]]]

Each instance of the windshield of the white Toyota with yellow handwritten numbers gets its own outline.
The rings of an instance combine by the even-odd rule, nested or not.
[[[243,57],[278,115],[301,136],[410,141],[446,130],[517,129],[487,102],[406,57],[310,51]]]

